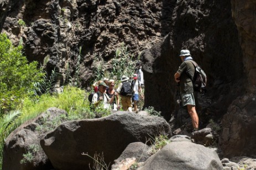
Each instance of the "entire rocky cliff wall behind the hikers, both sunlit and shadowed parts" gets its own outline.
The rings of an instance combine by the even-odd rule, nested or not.
[[[121,42],[135,56],[143,51],[145,107],[154,106],[167,120],[176,107],[173,75],[181,63],[179,51],[189,49],[208,75],[208,92],[198,98],[200,119],[228,113],[222,120],[222,147],[226,155],[239,155],[251,147],[238,149],[248,142],[247,138],[236,142],[236,135],[244,134],[237,127],[244,121],[250,131],[255,124],[255,4],[253,0],[4,0],[0,29],[14,43],[23,40],[30,61],[43,63],[49,58],[46,67],[56,67],[60,81],[68,72],[74,75],[79,66],[83,86],[93,77],[93,61],[110,61]],[[256,136],[252,131],[248,135]],[[255,137],[249,139],[255,143]],[[237,152],[229,152],[234,147]]]

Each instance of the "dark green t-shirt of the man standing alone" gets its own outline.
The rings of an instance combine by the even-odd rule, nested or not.
[[[179,70],[177,73],[180,73],[180,88],[181,93],[191,93],[194,92],[193,84],[191,78],[193,78],[195,73],[195,67],[192,62],[189,60],[182,62],[180,64]]]

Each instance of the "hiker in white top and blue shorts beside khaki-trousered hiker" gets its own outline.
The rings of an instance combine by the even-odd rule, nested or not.
[[[138,81],[138,75],[134,74],[133,75],[133,81],[132,81],[132,87],[133,87],[133,104],[134,104],[134,112],[138,112],[138,103],[139,103],[139,94],[140,97],[143,99],[143,94],[142,94],[142,86],[140,81]]]

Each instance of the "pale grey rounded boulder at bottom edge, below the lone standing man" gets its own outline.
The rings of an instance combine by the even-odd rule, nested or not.
[[[215,151],[190,141],[171,142],[149,157],[138,170],[166,169],[220,169],[222,164]]]

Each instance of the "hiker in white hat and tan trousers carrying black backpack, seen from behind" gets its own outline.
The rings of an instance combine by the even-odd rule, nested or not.
[[[128,76],[122,76],[121,83],[117,88],[117,92],[121,96],[123,111],[127,111],[128,109],[129,112],[132,112],[132,86],[128,80]]]

